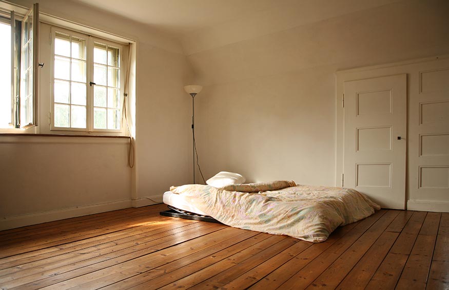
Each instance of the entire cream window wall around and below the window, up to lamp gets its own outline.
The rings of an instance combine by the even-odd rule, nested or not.
[[[30,7],[34,1],[14,2]],[[0,175],[0,229],[151,204],[162,200],[170,185],[186,183],[191,113],[183,86],[193,73],[179,41],[80,3],[39,2],[43,13],[136,41],[135,168],[127,167],[123,140],[28,142],[15,137],[9,142],[0,136],[0,171],[5,173]],[[23,169],[32,174],[24,177]]]

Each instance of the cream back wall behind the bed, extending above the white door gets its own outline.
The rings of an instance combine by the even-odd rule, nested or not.
[[[256,14],[242,19],[240,30],[227,23],[183,39],[197,82],[205,85],[197,118],[205,178],[229,170],[249,181],[340,184],[335,72],[449,52],[449,2],[364,3],[329,19],[309,9],[304,23],[287,6],[277,12],[286,13],[282,25]],[[279,28],[256,29],[269,24]]]

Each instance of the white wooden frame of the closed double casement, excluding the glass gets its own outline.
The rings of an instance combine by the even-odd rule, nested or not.
[[[54,126],[54,39],[56,32],[68,34],[71,36],[80,37],[86,39],[86,128],[67,128],[67,127],[56,127]],[[119,48],[119,59],[120,59],[120,129],[94,129],[93,128],[93,88],[95,85],[90,86],[89,82],[93,82],[93,47],[94,43],[101,43],[107,46]],[[51,59],[51,69],[50,69],[50,131],[75,131],[75,132],[99,132],[99,133],[115,133],[114,135],[122,135],[125,133],[125,120],[123,117],[123,101],[124,101],[124,85],[125,85],[125,71],[127,64],[127,57],[125,52],[128,48],[120,43],[113,42],[111,40],[90,36],[81,32],[75,32],[65,28],[60,28],[57,26],[51,26],[51,48],[50,48],[50,59]]]

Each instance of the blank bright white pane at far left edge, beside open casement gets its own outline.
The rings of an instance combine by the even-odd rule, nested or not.
[[[11,120],[11,26],[0,23],[0,128],[10,127]]]

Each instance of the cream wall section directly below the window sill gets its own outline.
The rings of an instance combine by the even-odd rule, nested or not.
[[[129,200],[127,139],[0,138],[2,218]]]

